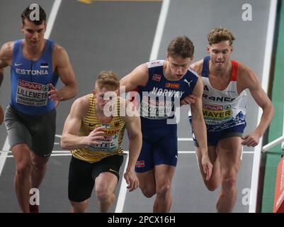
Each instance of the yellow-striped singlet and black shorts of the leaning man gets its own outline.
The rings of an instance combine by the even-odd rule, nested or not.
[[[115,103],[113,119],[101,123],[96,116],[96,97],[89,97],[89,109],[81,123],[79,136],[87,136],[95,128],[102,127],[103,141],[99,145],[85,145],[71,150],[72,160],[69,167],[68,195],[70,201],[85,201],[91,196],[96,177],[101,172],[111,172],[119,179],[120,166],[123,164],[123,135],[125,121],[120,113],[120,98]],[[89,174],[88,174],[89,173]]]

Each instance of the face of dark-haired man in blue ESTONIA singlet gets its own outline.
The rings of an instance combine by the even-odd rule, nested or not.
[[[45,21],[43,21],[40,25],[36,25],[35,23],[25,18],[25,23],[22,24],[22,32],[25,37],[25,41],[32,48],[38,48],[40,46],[40,44],[44,40],[45,31]]]

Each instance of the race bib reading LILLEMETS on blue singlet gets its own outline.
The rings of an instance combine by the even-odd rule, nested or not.
[[[46,106],[48,100],[48,84],[37,84],[18,80],[16,102],[25,106]]]

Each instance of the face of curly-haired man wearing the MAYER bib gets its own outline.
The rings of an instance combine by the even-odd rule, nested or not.
[[[233,47],[229,45],[229,40],[222,41],[207,46],[210,59],[216,70],[224,70],[229,63]]]

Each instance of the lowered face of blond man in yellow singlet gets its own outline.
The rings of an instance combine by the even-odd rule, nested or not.
[[[96,108],[103,111],[104,107],[108,104],[108,107],[114,106],[118,91],[106,89],[105,87],[99,89],[97,86],[93,90],[93,94],[96,96]]]

